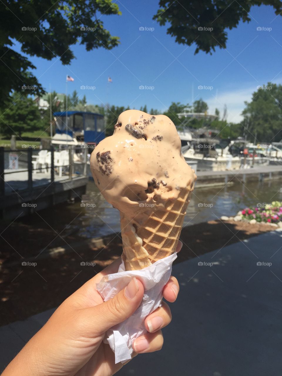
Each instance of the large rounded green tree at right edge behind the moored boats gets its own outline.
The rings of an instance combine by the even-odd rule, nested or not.
[[[245,133],[248,138],[263,142],[282,139],[282,85],[268,82],[255,91],[250,103],[245,102]]]

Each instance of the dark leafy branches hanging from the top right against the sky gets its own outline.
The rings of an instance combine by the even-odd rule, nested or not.
[[[275,14],[282,12],[280,0],[160,0],[153,19],[164,26],[169,23],[167,34],[179,44],[196,43],[195,54],[200,50],[211,53],[215,47],[226,48],[226,29],[237,27],[240,21],[250,22],[253,5],[271,5]]]

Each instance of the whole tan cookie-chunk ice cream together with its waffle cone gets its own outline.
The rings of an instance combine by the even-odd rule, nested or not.
[[[196,175],[165,115],[124,111],[90,160],[95,183],[120,211],[126,270],[175,252]]]

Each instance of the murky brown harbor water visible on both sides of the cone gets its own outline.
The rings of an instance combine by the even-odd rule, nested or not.
[[[184,226],[216,220],[222,215],[235,215],[245,207],[282,201],[282,180],[240,183],[231,186],[199,188],[197,185],[187,209]],[[106,202],[95,183],[89,181],[86,194],[75,203],[64,203],[39,212],[40,226],[76,233],[81,238],[93,238],[120,231],[117,209]],[[20,218],[19,221],[37,226],[37,214]]]

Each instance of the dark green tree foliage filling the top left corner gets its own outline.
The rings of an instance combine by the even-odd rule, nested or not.
[[[76,43],[85,45],[87,51],[112,49],[119,44],[119,38],[104,28],[100,14],[121,12],[112,0],[0,2],[0,103],[12,90],[20,92],[22,86],[27,86],[26,94],[44,92],[30,72],[36,67],[12,49],[14,41],[21,44],[21,52],[26,55],[58,58],[70,64],[74,58],[71,47]]]

